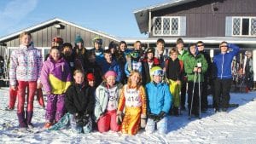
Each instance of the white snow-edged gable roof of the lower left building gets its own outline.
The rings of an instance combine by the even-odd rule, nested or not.
[[[99,36],[102,36],[102,37],[108,37],[108,38],[113,39],[115,41],[119,41],[119,39],[117,37],[113,37],[113,36],[108,35],[108,34],[106,34],[104,32],[98,32],[98,31],[95,31],[95,30],[90,30],[88,28],[84,28],[83,26],[76,25],[76,24],[74,24],[72,22],[69,22],[67,20],[61,20],[60,18],[54,18],[54,19],[51,19],[51,20],[44,21],[44,22],[42,22],[42,23],[40,23],[38,25],[28,27],[28,28],[23,29],[23,30],[21,30],[19,32],[12,33],[12,34],[10,34],[8,36],[0,37],[0,42],[3,42],[3,41],[5,41],[5,40],[7,40],[9,38],[12,38],[12,37],[17,37],[17,36],[20,35],[21,32],[30,32],[30,31],[36,30],[36,29],[38,29],[40,27],[48,26],[50,24],[55,24],[57,22],[66,23],[67,25],[78,27],[78,28],[80,28],[80,29],[82,29],[84,31],[92,32],[92,33],[95,33],[96,35],[99,35]]]

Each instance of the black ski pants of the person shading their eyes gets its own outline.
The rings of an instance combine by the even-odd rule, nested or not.
[[[232,78],[219,79],[214,81],[214,101],[215,108],[228,108],[230,105],[230,89],[232,84]]]

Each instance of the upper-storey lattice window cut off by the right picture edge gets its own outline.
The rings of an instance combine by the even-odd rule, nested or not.
[[[256,37],[256,17],[232,17],[232,36]]]

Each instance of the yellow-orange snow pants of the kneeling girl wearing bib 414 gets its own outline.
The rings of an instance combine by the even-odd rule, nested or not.
[[[125,117],[122,122],[122,133],[135,135],[140,128],[141,107],[125,107]]]

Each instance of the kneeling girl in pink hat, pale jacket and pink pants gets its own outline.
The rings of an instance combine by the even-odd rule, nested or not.
[[[101,133],[108,130],[120,130],[120,126],[116,122],[116,117],[120,89],[123,87],[122,84],[115,80],[117,77],[116,72],[108,71],[104,77],[105,80],[96,88],[96,104],[94,110],[98,130]]]

